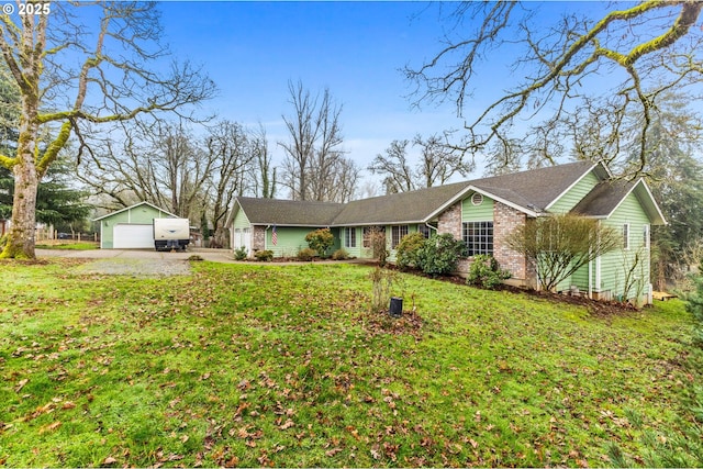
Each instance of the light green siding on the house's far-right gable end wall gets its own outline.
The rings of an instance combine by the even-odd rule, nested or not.
[[[621,235],[623,225],[629,224],[629,249],[616,249],[601,258],[601,284],[600,290],[610,290],[613,299],[632,299],[639,293],[646,294],[649,286],[649,263],[650,253],[645,245],[645,226],[650,221],[643,210],[639,201],[634,193],[625,198],[623,203],[615,210],[613,215],[604,222],[606,226],[612,226]],[[637,283],[625,290],[625,273],[635,263],[635,258],[639,256],[643,261],[635,269]]]

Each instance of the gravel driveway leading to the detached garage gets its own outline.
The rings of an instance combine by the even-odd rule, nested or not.
[[[136,277],[168,277],[190,273],[188,258],[198,255],[215,263],[232,263],[226,249],[192,249],[186,253],[153,249],[36,249],[37,257],[66,257],[94,259],[75,267],[82,273],[127,275]]]

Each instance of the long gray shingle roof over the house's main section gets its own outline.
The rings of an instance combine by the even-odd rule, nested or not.
[[[245,197],[237,200],[249,222],[271,225],[348,226],[424,222],[447,202],[466,194],[471,187],[531,212],[539,212],[594,166],[592,161],[577,161],[346,204]]]

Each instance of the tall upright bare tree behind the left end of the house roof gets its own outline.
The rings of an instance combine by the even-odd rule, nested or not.
[[[288,89],[294,114],[283,116],[290,141],[279,143],[286,152],[282,183],[294,200],[334,200],[334,181],[350,166],[350,161],[344,161],[342,149],[342,105],[333,102],[328,89],[322,99],[320,94],[313,97],[300,81],[289,81]]]

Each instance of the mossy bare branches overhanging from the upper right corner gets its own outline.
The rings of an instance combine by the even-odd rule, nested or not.
[[[592,148],[607,148],[613,158],[622,158],[620,138],[623,119],[636,114],[631,133],[637,135],[640,171],[647,164],[647,139],[651,135],[652,113],[662,94],[696,89],[703,77],[703,29],[695,27],[703,2],[690,0],[640,1],[636,3],[593,3],[603,8],[593,16],[563,14],[558,23],[545,25],[545,15],[535,14],[518,3],[464,2],[449,15],[453,37],[420,68],[406,68],[406,77],[417,85],[417,103],[450,100],[457,114],[464,115],[466,103],[480,91],[475,88],[486,57],[500,57],[502,47],[516,52],[513,70],[524,79],[515,80],[494,102],[465,124],[464,149],[480,153],[491,142],[509,142],[515,121],[550,115],[532,125],[524,136],[524,147],[534,147],[533,157],[551,161],[549,144],[559,142],[555,125],[565,114],[577,115],[579,109],[600,109],[599,139]],[[544,5],[543,5],[544,7]],[[550,4],[550,8],[554,7]],[[536,7],[540,8],[540,7]],[[590,11],[596,7],[590,5]],[[468,24],[467,24],[468,23]],[[465,34],[465,32],[469,31]],[[606,74],[611,88],[603,83],[590,88],[591,77]],[[603,98],[596,98],[596,97]],[[606,132],[607,131],[607,132]],[[509,155],[506,152],[493,154]]]

